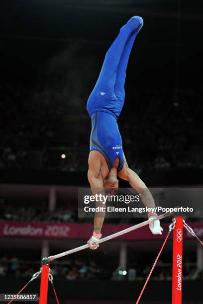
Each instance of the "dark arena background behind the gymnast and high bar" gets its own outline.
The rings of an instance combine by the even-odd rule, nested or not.
[[[1,0],[0,293],[24,286],[42,256],[91,235],[92,221],[77,217],[77,188],[88,186],[86,102],[105,52],[132,15],[144,26],[118,121],[128,164],[148,186],[202,187],[202,1]],[[107,219],[104,227],[134,222]],[[202,219],[187,223],[203,238]],[[34,230],[47,227],[49,235]],[[81,230],[87,238],[77,236]],[[183,303],[202,303],[203,250],[185,237]],[[135,235],[53,262],[60,303],[135,303],[161,244]],[[141,303],[170,303],[171,265],[170,239]],[[26,292],[39,293],[39,284]]]

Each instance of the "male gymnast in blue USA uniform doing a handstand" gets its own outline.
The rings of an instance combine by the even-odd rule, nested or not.
[[[118,188],[117,176],[129,182],[141,196],[146,207],[155,208],[154,199],[139,176],[131,170],[122,149],[122,140],[117,119],[124,103],[124,82],[129,55],[134,40],[143,26],[143,19],[133,16],[120,29],[108,49],[98,81],[88,99],[87,110],[92,120],[88,180],[93,194],[103,189]],[[97,203],[102,206],[103,202]],[[101,229],[105,214],[95,216],[94,232],[88,241],[91,249],[99,247]],[[148,218],[157,217],[149,212]],[[162,234],[159,220],[150,223],[153,234]]]

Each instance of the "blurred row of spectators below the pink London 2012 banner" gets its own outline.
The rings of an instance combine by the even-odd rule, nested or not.
[[[116,262],[112,255],[108,256],[108,268],[104,261],[100,260],[100,265],[95,261],[86,258],[66,259],[60,262],[53,262],[51,273],[54,278],[66,280],[113,280],[113,281],[141,281],[146,280],[152,264],[145,264],[142,259],[129,264],[126,270],[116,267]],[[113,261],[114,260],[114,261]],[[16,256],[8,258],[6,255],[0,258],[0,277],[10,276],[15,278],[31,278],[33,274],[39,271],[40,261],[24,261]],[[196,263],[191,263],[188,257],[184,261],[184,280],[201,280],[203,272],[198,271]],[[159,260],[152,274],[152,280],[171,281],[172,264]]]

